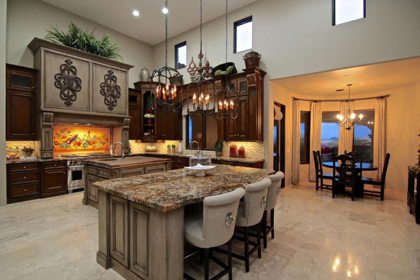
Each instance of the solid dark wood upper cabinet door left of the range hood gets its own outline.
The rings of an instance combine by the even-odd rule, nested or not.
[[[35,140],[34,94],[9,90],[6,104],[6,140]]]

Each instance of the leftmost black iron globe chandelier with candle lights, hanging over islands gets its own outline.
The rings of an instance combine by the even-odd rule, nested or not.
[[[168,0],[165,1],[165,9],[168,10]],[[160,112],[178,111],[182,108],[182,86],[181,99],[177,98],[179,89],[174,80],[182,79],[182,75],[174,68],[168,67],[168,13],[165,14],[165,66],[153,71],[150,76],[150,92],[153,94],[151,104],[152,110]],[[158,85],[154,87],[154,81]]]

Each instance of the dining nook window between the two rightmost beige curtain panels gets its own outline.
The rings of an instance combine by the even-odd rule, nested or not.
[[[359,110],[356,116],[363,115],[362,123],[354,125],[353,151],[359,153],[363,162],[373,162],[373,139],[375,110]]]

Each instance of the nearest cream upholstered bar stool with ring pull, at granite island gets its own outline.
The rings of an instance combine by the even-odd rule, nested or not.
[[[211,279],[220,279],[229,274],[232,279],[232,236],[235,230],[235,221],[238,205],[244,196],[245,190],[238,188],[233,192],[210,196],[204,199],[203,214],[193,214],[185,217],[185,239],[198,248],[204,249],[204,274],[209,280],[209,259],[221,266],[224,270]],[[228,264],[210,256],[209,249],[228,243]],[[196,251],[184,259],[194,255]],[[194,279],[184,274],[185,279]]]

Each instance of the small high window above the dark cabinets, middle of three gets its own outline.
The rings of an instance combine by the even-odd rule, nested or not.
[[[233,52],[252,49],[252,16],[233,24]]]

